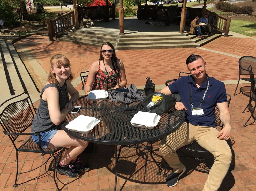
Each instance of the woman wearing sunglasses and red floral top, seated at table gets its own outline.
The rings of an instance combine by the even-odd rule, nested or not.
[[[101,46],[99,61],[93,62],[87,82],[85,95],[91,90],[123,88],[127,84],[123,62],[116,57],[114,46],[105,42]]]

